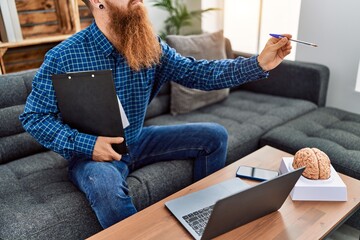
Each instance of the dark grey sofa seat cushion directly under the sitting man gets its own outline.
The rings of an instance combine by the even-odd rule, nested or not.
[[[68,180],[67,163],[47,151],[0,165],[0,239],[84,239],[102,230],[85,195]],[[141,210],[191,184],[192,162],[145,166],[127,182]]]

